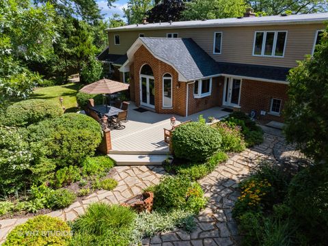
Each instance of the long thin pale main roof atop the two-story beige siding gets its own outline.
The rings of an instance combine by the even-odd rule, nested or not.
[[[261,16],[247,18],[221,18],[213,20],[189,20],[173,23],[148,23],[147,25],[126,25],[107,29],[109,31],[143,30],[143,29],[176,29],[184,27],[229,27],[247,25],[279,25],[300,23],[323,23],[328,20],[328,13],[318,14],[291,14],[288,16]]]

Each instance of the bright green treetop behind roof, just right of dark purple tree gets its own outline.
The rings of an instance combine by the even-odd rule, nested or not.
[[[182,12],[184,20],[202,20],[243,16],[243,0],[193,0]]]

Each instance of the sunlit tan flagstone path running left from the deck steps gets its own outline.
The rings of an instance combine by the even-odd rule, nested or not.
[[[161,176],[165,174],[163,167],[159,166],[118,166],[113,167],[113,178],[118,181],[118,186],[113,191],[97,191],[85,197],[81,202],[74,202],[68,208],[53,211],[47,215],[59,217],[64,221],[76,219],[85,213],[85,209],[92,202],[106,202],[120,204],[134,195],[141,193],[143,189],[153,184],[158,184]],[[0,245],[5,241],[5,236],[15,226],[24,223],[29,218],[3,219],[0,221]]]

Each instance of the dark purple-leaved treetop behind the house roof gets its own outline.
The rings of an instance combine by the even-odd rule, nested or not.
[[[169,20],[181,20],[181,13],[185,10],[184,3],[186,0],[161,0],[154,5],[154,8],[147,12],[148,21],[150,23],[160,21],[167,22]]]

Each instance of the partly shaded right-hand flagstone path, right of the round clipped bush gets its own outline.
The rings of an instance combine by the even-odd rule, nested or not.
[[[195,219],[197,228],[191,233],[183,230],[157,234],[143,240],[151,246],[230,246],[238,245],[238,232],[232,207],[240,195],[238,182],[247,177],[260,159],[274,160],[273,148],[283,137],[264,135],[264,143],[236,154],[211,174],[200,180],[208,204]]]

